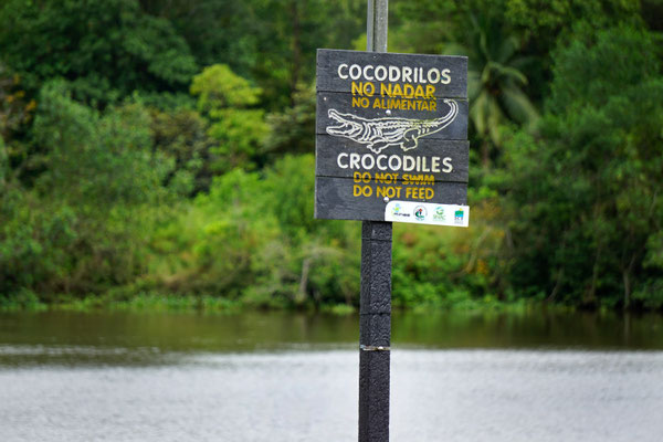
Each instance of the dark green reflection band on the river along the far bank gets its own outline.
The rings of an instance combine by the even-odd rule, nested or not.
[[[0,314],[0,366],[165,364],[172,354],[354,349],[356,316]],[[394,348],[663,349],[656,315],[393,314]],[[177,360],[177,358],[175,358]]]

